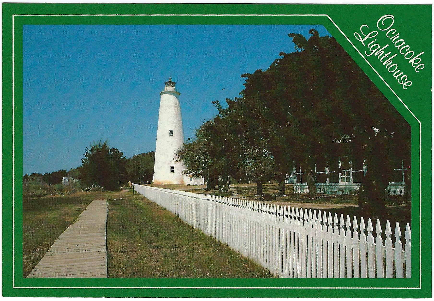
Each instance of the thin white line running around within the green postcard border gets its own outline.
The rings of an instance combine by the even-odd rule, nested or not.
[[[15,180],[15,94],[14,94],[14,68],[15,68],[15,62],[14,62],[14,54],[15,54],[15,45],[14,45],[14,20],[15,16],[326,16],[329,18],[329,20],[333,23],[333,25],[336,26],[336,28],[342,33],[342,35],[345,37],[345,39],[348,40],[348,42],[354,47],[354,49],[362,56],[362,58],[368,63],[369,66],[371,66],[372,70],[375,71],[375,73],[380,77],[380,79],[388,86],[388,88],[393,92],[393,94],[401,101],[401,103],[404,105],[405,108],[413,115],[414,119],[416,119],[419,123],[419,287],[418,288],[390,288],[390,289],[421,289],[422,288],[422,158],[421,158],[421,150],[422,150],[422,124],[421,121],[413,114],[413,112],[408,108],[407,105],[405,105],[404,101],[401,100],[401,98],[393,91],[393,89],[388,85],[388,83],[381,77],[381,75],[377,72],[377,70],[374,69],[374,67],[371,65],[370,62],[365,58],[365,56],[362,55],[362,53],[354,46],[354,44],[351,42],[351,40],[345,35],[345,33],[342,32],[342,30],[339,28],[339,26],[336,25],[336,23],[330,18],[328,14],[23,14],[23,15],[12,15],[12,241],[13,241],[13,248],[12,248],[12,287],[13,288],[274,288],[274,289],[306,289],[306,288],[338,288],[338,287],[16,287],[15,286],[15,188],[14,188],[14,180]],[[339,287],[339,288],[355,288],[355,287]],[[359,288],[365,288],[370,289],[368,287],[359,287]],[[359,289],[357,288],[357,289]],[[383,289],[384,287],[373,287],[373,288],[379,288]]]

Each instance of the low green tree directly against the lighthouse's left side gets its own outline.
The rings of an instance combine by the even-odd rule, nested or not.
[[[155,151],[132,156],[127,162],[128,180],[138,184],[151,183],[154,178]]]

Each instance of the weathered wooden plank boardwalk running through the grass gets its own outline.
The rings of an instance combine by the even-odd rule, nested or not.
[[[28,278],[107,278],[107,200],[93,200]]]

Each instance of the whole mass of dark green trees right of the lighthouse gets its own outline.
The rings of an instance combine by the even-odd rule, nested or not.
[[[190,157],[197,150],[206,154],[208,165],[219,166],[214,176],[228,170],[258,186],[273,177],[280,195],[286,174],[297,165],[306,172],[312,197],[315,164],[327,166],[345,155],[366,159],[359,205],[384,211],[393,162],[410,160],[410,127],[333,37],[309,33],[309,39],[290,33],[296,51],[281,52],[266,70],[241,75],[246,82],[240,97],[227,99],[225,108],[215,101],[218,115],[184,150],[190,147]],[[213,131],[203,135],[208,127]]]

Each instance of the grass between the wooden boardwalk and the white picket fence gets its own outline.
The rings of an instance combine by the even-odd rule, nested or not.
[[[141,195],[109,200],[109,278],[266,278],[260,265]]]

